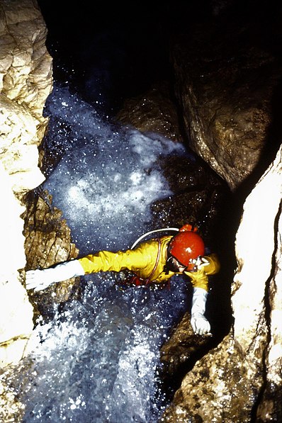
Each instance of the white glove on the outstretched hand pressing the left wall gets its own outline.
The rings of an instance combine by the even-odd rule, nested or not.
[[[26,271],[26,289],[41,291],[52,283],[65,281],[75,276],[85,274],[83,267],[78,260],[65,261],[49,269],[37,269]]]

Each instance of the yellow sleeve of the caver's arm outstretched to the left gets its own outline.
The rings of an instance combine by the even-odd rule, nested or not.
[[[151,262],[148,256],[141,254],[140,250],[127,250],[125,252],[101,251],[96,254],[79,259],[85,274],[99,271],[120,271],[124,269],[135,271],[144,269]]]

